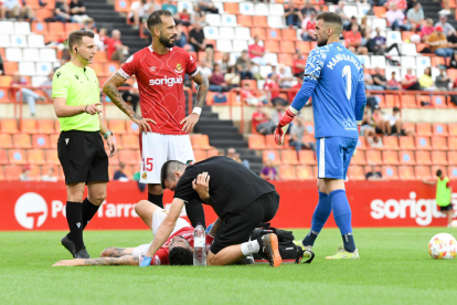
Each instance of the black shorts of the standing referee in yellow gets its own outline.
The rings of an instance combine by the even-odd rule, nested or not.
[[[57,143],[65,183],[108,182],[108,156],[98,132],[62,132]]]

